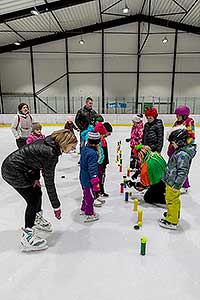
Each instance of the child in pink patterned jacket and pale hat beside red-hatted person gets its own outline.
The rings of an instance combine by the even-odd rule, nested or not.
[[[130,160],[130,167],[131,169],[136,168],[136,160],[133,156],[133,149],[136,145],[141,144],[142,142],[142,135],[143,135],[143,115],[139,114],[133,117],[132,122],[132,129],[131,129],[131,138],[126,139],[127,142],[130,141],[130,147],[131,147],[131,160]]]

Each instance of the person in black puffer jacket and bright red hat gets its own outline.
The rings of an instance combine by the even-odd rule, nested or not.
[[[158,112],[155,107],[147,108],[145,116],[147,123],[144,125],[142,144],[149,146],[153,152],[161,153],[164,138],[163,122],[157,119]]]

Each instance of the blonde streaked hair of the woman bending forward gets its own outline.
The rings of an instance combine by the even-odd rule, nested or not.
[[[60,129],[51,134],[51,138],[64,150],[67,145],[77,144],[76,136],[68,129]]]

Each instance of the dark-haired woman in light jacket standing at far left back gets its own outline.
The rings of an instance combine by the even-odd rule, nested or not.
[[[16,138],[16,144],[19,149],[26,145],[26,139],[31,133],[32,122],[28,104],[20,103],[17,115],[14,117],[11,125],[11,131]]]

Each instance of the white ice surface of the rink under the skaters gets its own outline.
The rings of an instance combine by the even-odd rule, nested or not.
[[[58,127],[43,127],[48,135]],[[61,129],[61,127],[59,127]],[[168,129],[165,130],[165,134]],[[0,178],[0,299],[1,300],[198,300],[200,297],[200,158],[190,171],[191,189],[181,196],[177,231],[159,227],[164,209],[140,203],[143,226],[135,231],[137,213],[124,201],[119,184],[129,162],[125,138],[130,127],[114,127],[108,137],[110,165],[106,192],[110,198],[96,208],[100,220],[83,223],[79,216],[81,188],[78,155],[60,158],[56,169],[62,219],[55,219],[43,186],[44,217],[53,232],[42,234],[47,250],[20,251],[25,201]],[[196,131],[199,144],[200,129]],[[115,163],[116,144],[122,141],[123,173]],[[163,149],[166,153],[167,142]],[[0,160],[16,149],[9,128],[0,128]],[[165,155],[164,155],[165,156]],[[61,178],[62,176],[65,178]],[[140,255],[140,238],[146,236],[147,253]]]

